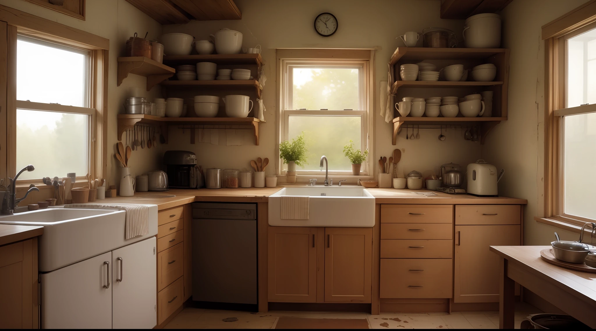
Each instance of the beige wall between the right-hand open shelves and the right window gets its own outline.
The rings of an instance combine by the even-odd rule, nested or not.
[[[585,0],[518,0],[501,16],[504,47],[511,50],[508,120],[497,125],[482,149],[485,159],[505,168],[499,193],[528,200],[525,245],[548,245],[554,231],[564,240],[579,234],[534,221],[542,216],[544,193],[544,41],[541,26]]]

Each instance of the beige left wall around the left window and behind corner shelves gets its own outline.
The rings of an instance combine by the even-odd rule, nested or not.
[[[116,114],[123,111],[122,103],[135,86],[142,87],[144,96],[147,97],[160,94],[159,86],[153,88],[150,92],[145,92],[145,78],[137,75],[129,75],[122,85],[116,86],[117,57],[124,55],[126,39],[135,32],[141,36],[144,36],[145,32],[149,32],[147,38],[156,39],[161,35],[162,26],[125,0],[87,0],[85,21],[23,0],[0,0],[0,4],[110,39],[107,179],[110,183],[117,184],[118,165],[117,160],[114,158],[114,151],[116,151],[114,146],[117,142]],[[159,153],[147,148],[134,151],[131,157],[133,171],[141,173],[154,169],[160,159],[157,154]],[[66,174],[45,175],[66,176]]]

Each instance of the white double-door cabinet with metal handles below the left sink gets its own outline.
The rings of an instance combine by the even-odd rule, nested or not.
[[[151,237],[42,274],[42,328],[156,326],[155,254]]]

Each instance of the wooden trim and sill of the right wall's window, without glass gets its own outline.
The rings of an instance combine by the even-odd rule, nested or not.
[[[579,233],[579,229],[591,219],[563,214],[561,208],[563,169],[561,153],[562,117],[565,113],[589,112],[566,109],[566,54],[565,41],[596,26],[596,0],[586,2],[575,10],[542,26],[545,42],[544,70],[544,209],[536,221],[566,228]],[[589,105],[588,105],[589,106]],[[574,107],[579,108],[579,107]],[[560,110],[561,109],[561,110]],[[576,227],[578,227],[576,229]]]

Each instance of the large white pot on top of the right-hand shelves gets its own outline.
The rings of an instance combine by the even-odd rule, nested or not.
[[[501,46],[501,17],[497,14],[470,16],[464,25],[465,47],[499,48]]]

